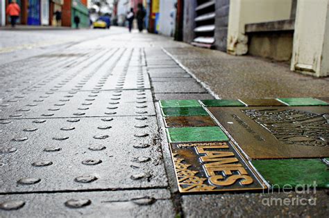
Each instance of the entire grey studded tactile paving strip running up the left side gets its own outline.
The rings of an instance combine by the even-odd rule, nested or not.
[[[1,216],[173,216],[143,48],[67,49],[0,77]]]

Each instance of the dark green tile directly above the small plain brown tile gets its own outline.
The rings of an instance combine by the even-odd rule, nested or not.
[[[164,116],[208,116],[202,107],[165,107],[162,108]]]

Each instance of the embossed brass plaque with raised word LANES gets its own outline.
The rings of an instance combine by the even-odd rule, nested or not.
[[[170,146],[182,193],[267,188],[229,142],[171,143]]]

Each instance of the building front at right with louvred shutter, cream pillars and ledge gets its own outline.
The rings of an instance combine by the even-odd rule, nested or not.
[[[182,10],[184,42],[329,75],[328,0],[184,0]]]

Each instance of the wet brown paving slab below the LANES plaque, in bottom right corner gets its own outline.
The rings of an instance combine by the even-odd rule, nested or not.
[[[185,195],[182,197],[182,208],[185,217],[327,217],[329,213],[326,190],[317,190],[315,194],[264,192]]]

